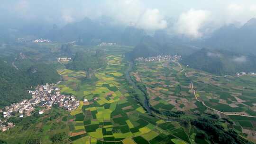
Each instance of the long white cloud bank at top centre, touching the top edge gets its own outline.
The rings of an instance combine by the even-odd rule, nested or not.
[[[146,30],[163,29],[167,26],[159,9],[146,8],[141,0],[108,0],[105,11],[104,14],[125,25]]]

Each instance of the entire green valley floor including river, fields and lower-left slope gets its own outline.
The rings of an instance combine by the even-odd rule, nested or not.
[[[233,139],[255,141],[255,77],[216,77],[170,60],[129,63],[127,49],[105,49],[107,65],[90,79],[86,71],[58,67],[61,94],[76,96],[80,106],[26,117],[0,139],[8,144],[51,144],[58,136],[65,144],[210,144],[216,137],[197,125],[207,121],[219,136],[233,129],[239,135]]]

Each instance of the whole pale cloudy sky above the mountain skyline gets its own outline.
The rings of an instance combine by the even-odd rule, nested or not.
[[[172,29],[200,38],[220,26],[242,25],[256,17],[256,0],[1,0],[0,5],[0,18],[6,22],[64,25],[101,16],[122,25]]]

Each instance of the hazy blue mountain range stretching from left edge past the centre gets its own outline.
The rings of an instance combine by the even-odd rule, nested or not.
[[[18,38],[32,40],[50,39],[56,42],[77,41],[79,45],[98,45],[102,42],[119,45],[137,45],[146,32],[133,26],[123,26],[111,18],[90,19],[58,27],[48,23],[22,23],[14,26],[0,25],[0,44],[14,42]]]

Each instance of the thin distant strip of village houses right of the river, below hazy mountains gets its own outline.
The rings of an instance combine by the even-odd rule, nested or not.
[[[157,56],[153,56],[153,57],[138,57],[135,60],[136,61],[144,61],[144,62],[153,62],[153,61],[177,61],[181,58],[180,55],[157,55]]]

